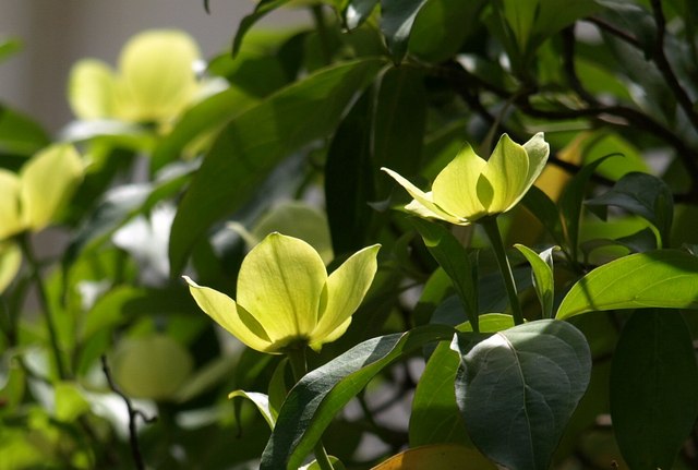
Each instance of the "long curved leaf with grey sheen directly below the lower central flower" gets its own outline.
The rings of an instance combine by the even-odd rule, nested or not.
[[[453,335],[453,328],[429,325],[372,338],[306,374],[286,398],[260,468],[300,467],[335,414],[377,373],[428,342]]]

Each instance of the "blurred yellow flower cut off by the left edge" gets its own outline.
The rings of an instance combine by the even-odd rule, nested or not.
[[[0,240],[39,231],[63,208],[83,179],[72,145],[52,145],[33,156],[20,173],[0,169]]]

